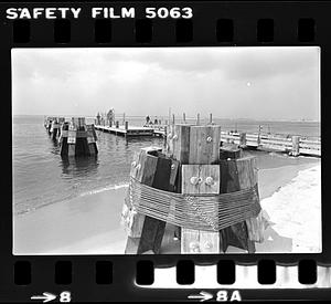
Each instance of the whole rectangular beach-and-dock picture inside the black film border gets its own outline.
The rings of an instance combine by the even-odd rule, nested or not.
[[[322,252],[319,46],[11,56],[13,254]]]

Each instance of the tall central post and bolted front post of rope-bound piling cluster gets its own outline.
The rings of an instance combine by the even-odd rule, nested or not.
[[[205,180],[211,175],[215,181],[220,181],[220,126],[190,126],[174,125],[168,136],[168,154],[180,161],[182,165],[181,175],[181,192],[192,193],[195,187],[200,193],[212,193],[215,187],[203,187],[200,185],[191,185],[191,177],[199,175],[199,178]],[[218,174],[217,174],[218,168]],[[197,170],[197,171],[196,171]],[[192,175],[192,176],[190,176]],[[217,185],[217,182],[215,182]],[[220,184],[218,184],[220,185]],[[216,186],[217,188],[217,186]],[[220,187],[218,187],[220,188]],[[210,231],[196,231],[188,228],[181,229],[181,250],[182,253],[196,252],[197,239],[201,242],[206,242],[207,245],[199,243],[199,252],[220,252],[218,233]]]

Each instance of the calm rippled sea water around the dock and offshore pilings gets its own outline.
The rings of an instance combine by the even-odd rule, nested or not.
[[[153,118],[153,117],[152,117]],[[64,160],[60,146],[53,141],[43,126],[43,116],[14,116],[12,126],[13,151],[13,205],[14,213],[31,212],[36,208],[87,196],[107,189],[124,187],[129,179],[135,150],[146,146],[162,146],[163,139],[125,139],[97,132],[96,157]],[[87,120],[92,123],[93,119]],[[143,119],[132,118],[132,125],[142,125]],[[318,123],[244,122],[215,119],[223,129],[319,136]],[[258,157],[259,167],[277,167],[305,161],[268,153],[250,153]]]

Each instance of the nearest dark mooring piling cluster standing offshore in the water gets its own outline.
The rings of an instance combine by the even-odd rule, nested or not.
[[[94,125],[86,125],[85,117],[72,118],[62,125],[61,156],[92,156],[98,153]]]

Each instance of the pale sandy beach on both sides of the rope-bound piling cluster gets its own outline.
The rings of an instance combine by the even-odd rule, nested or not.
[[[321,251],[320,170],[320,159],[308,158],[258,170],[269,227],[257,252]],[[122,186],[15,214],[13,254],[124,254],[127,235],[120,212],[126,190]],[[245,253],[235,248],[227,252]]]

